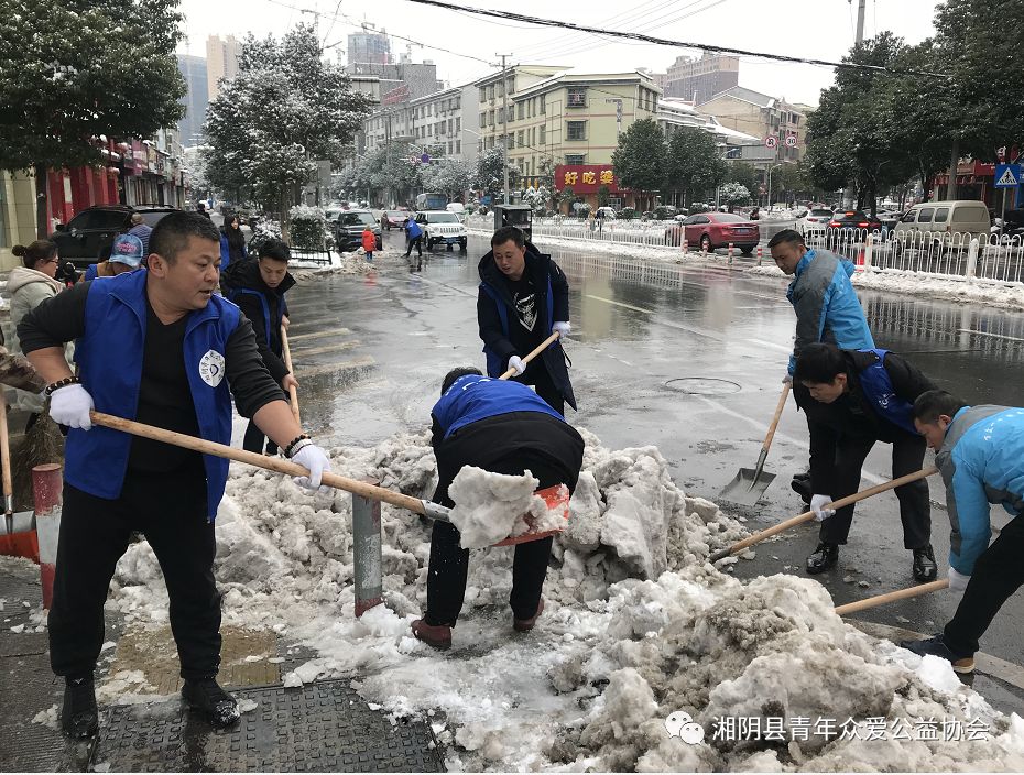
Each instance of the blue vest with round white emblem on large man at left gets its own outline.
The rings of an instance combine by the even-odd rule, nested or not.
[[[89,285],[85,334],[76,341],[75,362],[97,412],[134,419],[142,381],[145,341],[146,272],[124,272]],[[230,302],[214,295],[204,309],[188,314],[185,369],[203,438],[231,444],[231,394],[225,379],[225,349],[239,323]],[[110,346],[110,331],[118,346]],[[132,437],[119,430],[72,428],[65,449],[65,480],[97,498],[121,494]],[[228,479],[228,461],[203,456],[209,519],[217,515]]]

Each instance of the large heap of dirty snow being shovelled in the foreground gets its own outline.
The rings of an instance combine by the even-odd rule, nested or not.
[[[449,652],[413,638],[431,524],[388,504],[385,604],[357,620],[351,498],[311,494],[243,467],[232,471],[217,523],[225,623],[270,629],[316,654],[285,676],[286,686],[352,677],[371,708],[428,721],[453,769],[1024,767],[1024,722],[993,711],[948,665],[845,624],[814,580],[742,583],[721,572],[708,555],[745,535],[739,522],[687,498],[656,448],[609,450],[581,434],[570,526],[555,541],[545,612],[529,635],[511,631],[514,548],[506,547],[471,553]],[[436,483],[427,433],[336,448],[331,459],[339,473],[415,498]],[[166,621],[159,577],[148,545],[132,545],[109,604],[138,624]],[[715,739],[716,717],[761,729],[783,719],[786,741]],[[922,717],[970,719],[990,734],[867,740],[880,719]],[[862,728],[863,739],[835,729],[789,739],[818,718],[852,719],[847,727]],[[687,740],[698,738],[693,724],[704,730],[694,744],[679,736],[685,727]]]

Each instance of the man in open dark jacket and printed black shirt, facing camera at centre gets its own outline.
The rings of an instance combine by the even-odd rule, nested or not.
[[[532,352],[554,331],[569,335],[569,283],[558,264],[526,242],[523,231],[505,226],[491,237],[491,251],[480,259],[477,323],[487,373],[500,376],[515,369],[512,379],[534,385],[558,414],[565,404],[576,408],[565,351],[558,339],[529,364]]]

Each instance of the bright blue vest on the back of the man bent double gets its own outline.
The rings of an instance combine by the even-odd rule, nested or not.
[[[519,382],[493,380],[489,376],[467,374],[457,379],[431,414],[437,419],[445,438],[478,419],[497,417],[511,412],[543,412],[565,422],[547,402]]]

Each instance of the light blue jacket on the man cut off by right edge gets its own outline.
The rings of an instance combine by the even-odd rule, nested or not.
[[[970,575],[989,548],[989,504],[1024,514],[1024,408],[965,406],[935,456],[946,484],[949,565]]]

